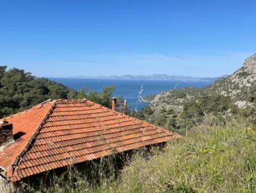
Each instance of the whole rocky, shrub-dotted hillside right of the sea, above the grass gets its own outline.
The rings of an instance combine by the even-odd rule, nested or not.
[[[135,116],[171,131],[185,133],[210,116],[213,124],[223,123],[243,114],[256,124],[256,54],[248,57],[242,68],[220,78],[212,85],[197,89],[187,87],[146,96],[150,102]]]

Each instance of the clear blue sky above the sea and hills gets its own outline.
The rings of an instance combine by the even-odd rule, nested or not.
[[[38,76],[214,77],[256,53],[256,1],[0,1],[0,65]]]

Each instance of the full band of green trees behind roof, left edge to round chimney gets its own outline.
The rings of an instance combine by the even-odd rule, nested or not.
[[[114,86],[105,87],[101,93],[76,90],[47,78],[36,78],[20,69],[0,66],[0,118],[15,114],[48,99],[82,99],[111,107]]]

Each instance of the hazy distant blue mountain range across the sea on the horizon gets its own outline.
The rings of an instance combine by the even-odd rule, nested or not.
[[[183,82],[214,82],[219,78],[228,77],[221,75],[219,77],[190,77],[184,75],[152,74],[152,75],[112,75],[112,76],[76,76],[71,78],[89,78],[89,79],[119,79],[119,80],[139,80],[139,81],[183,81]]]

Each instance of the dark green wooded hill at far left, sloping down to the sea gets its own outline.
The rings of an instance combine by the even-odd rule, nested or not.
[[[67,98],[72,89],[20,69],[0,66],[0,117],[23,111],[47,99]]]

